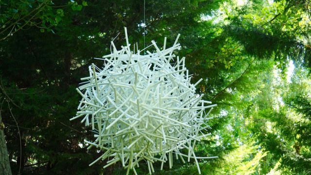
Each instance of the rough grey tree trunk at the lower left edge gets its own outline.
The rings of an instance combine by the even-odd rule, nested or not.
[[[0,174],[12,175],[9,154],[6,148],[6,142],[4,139],[4,124],[2,123],[1,111],[0,111]]]

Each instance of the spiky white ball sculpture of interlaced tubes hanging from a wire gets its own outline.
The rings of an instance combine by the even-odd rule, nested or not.
[[[87,149],[95,146],[104,154],[90,165],[110,157],[104,168],[121,161],[127,174],[130,169],[137,174],[135,167],[143,161],[151,174],[156,161],[161,169],[167,161],[171,168],[174,154],[183,162],[183,157],[194,158],[200,173],[197,159],[215,158],[196,157],[193,151],[196,141],[210,135],[202,131],[209,127],[207,115],[215,105],[195,94],[202,79],[192,85],[185,58],[173,54],[180,48],[178,37],[171,48],[166,48],[165,38],[162,50],[152,41],[156,52],[141,55],[135,47],[131,52],[125,28],[127,45],[118,51],[111,42],[104,68],[89,67],[89,76],[81,79],[85,84],[77,88],[82,96],[79,111],[70,120],[83,117],[81,123],[96,132],[93,141],[85,140]]]

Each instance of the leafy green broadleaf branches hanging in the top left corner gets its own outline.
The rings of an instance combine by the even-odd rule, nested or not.
[[[81,11],[87,6],[78,1],[51,1],[51,0],[1,0],[0,1],[0,40],[15,34],[19,30],[29,30],[32,26],[52,32],[64,17],[64,10]]]

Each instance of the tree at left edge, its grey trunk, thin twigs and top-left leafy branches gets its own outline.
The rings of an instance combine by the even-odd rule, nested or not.
[[[83,1],[82,5],[86,6],[87,3]],[[37,28],[40,28],[40,32],[44,32],[45,30],[54,33],[54,31],[51,29],[52,27],[57,26],[60,23],[60,20],[64,16],[64,11],[60,7],[66,7],[69,6],[73,10],[81,10],[82,5],[79,5],[77,2],[69,1],[67,5],[61,5],[61,6],[55,6],[55,4],[52,1],[49,0],[28,0],[28,1],[0,1],[0,7],[1,7],[1,15],[0,15],[0,40],[5,40],[9,36],[13,36],[17,31],[25,30],[26,27],[32,27],[35,26]],[[28,29],[29,29],[28,28]],[[27,30],[28,30],[27,29]],[[1,38],[2,37],[2,38]],[[1,73],[1,72],[0,72]],[[0,74],[1,76],[1,74]],[[1,76],[1,94],[3,96],[6,96],[8,102],[14,104],[18,108],[22,109],[18,105],[10,99],[10,97],[6,94],[4,87],[2,87],[2,76]],[[2,101],[1,108],[3,105],[4,100]],[[12,111],[10,107],[8,106],[11,114]],[[13,114],[12,114],[13,116]],[[14,119],[15,120],[15,119]],[[16,121],[15,121],[16,122]],[[4,124],[2,123],[1,118],[1,111],[0,111],[0,155],[1,155],[1,169],[0,172],[4,172],[4,174],[11,174],[11,168],[10,168],[10,162],[8,159],[8,152],[6,147],[6,141],[4,139]],[[18,125],[18,134],[20,138],[20,155],[22,155],[22,143],[21,143],[21,133],[19,131]],[[23,168],[20,161],[22,160],[22,157],[19,157],[17,161],[19,161],[19,170],[18,174],[20,173],[20,169]]]

